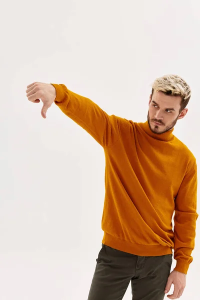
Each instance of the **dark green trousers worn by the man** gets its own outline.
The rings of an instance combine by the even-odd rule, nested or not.
[[[87,300],[121,300],[131,280],[132,300],[162,300],[172,254],[138,256],[102,244]]]

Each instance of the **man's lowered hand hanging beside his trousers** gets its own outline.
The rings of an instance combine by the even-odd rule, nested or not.
[[[186,274],[173,270],[167,279],[166,287],[164,292],[167,293],[171,288],[171,284],[174,285],[174,290],[172,295],[167,295],[169,299],[179,298],[186,285]]]

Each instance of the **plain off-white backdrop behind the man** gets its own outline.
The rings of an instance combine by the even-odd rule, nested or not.
[[[144,122],[151,83],[178,74],[192,95],[173,133],[199,168],[199,5],[198,0],[4,1],[0,300],[86,300],[103,236],[103,148],[54,103],[43,119],[42,103],[28,101],[26,86],[63,83],[108,114]],[[199,299],[199,251],[197,219],[182,299]],[[171,270],[174,266],[175,260]],[[130,285],[123,299],[131,299]]]

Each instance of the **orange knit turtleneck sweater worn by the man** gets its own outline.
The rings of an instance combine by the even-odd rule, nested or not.
[[[174,269],[186,274],[198,217],[197,166],[191,151],[173,129],[155,134],[147,121],[108,115],[64,84],[51,84],[55,104],[104,149],[102,243],[144,256],[174,249]]]

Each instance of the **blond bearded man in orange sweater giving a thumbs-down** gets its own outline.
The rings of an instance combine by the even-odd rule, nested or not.
[[[104,149],[104,236],[88,300],[121,300],[130,280],[132,300],[161,300],[172,283],[167,297],[182,295],[198,217],[197,166],[173,127],[187,113],[190,95],[181,77],[156,78],[147,121],[137,123],[108,115],[64,84],[27,86],[28,100],[43,102],[42,117],[54,102]]]

